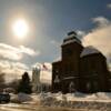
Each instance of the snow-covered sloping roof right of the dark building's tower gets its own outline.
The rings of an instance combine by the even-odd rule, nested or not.
[[[92,53],[101,53],[98,49],[93,48],[92,46],[85,47],[81,52],[80,57],[85,57]]]

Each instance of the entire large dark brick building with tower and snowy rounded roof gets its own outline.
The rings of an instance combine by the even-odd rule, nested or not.
[[[61,60],[52,63],[52,92],[109,90],[105,57],[93,47],[83,47],[74,31],[61,46]]]

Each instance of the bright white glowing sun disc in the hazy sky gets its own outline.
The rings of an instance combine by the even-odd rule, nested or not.
[[[12,31],[16,37],[18,37],[19,39],[23,39],[29,32],[29,26],[26,20],[18,19],[12,24]]]

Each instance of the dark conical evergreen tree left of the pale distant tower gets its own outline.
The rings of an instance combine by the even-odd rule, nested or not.
[[[20,84],[18,87],[18,92],[23,92],[23,93],[31,93],[31,83],[30,83],[30,78],[28,72],[24,72],[22,74],[22,79],[20,81]]]

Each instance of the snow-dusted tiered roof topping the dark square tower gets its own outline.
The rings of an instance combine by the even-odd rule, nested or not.
[[[78,39],[78,34],[74,31],[68,33],[67,38],[63,40],[63,44],[69,44],[72,42],[78,42],[81,44],[81,41]]]

